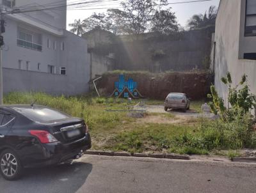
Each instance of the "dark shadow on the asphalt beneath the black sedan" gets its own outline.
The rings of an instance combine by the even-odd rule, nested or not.
[[[0,177],[0,187],[6,192],[70,192],[74,193],[85,183],[92,172],[92,164],[75,162],[59,166],[24,169],[17,181],[6,181]]]

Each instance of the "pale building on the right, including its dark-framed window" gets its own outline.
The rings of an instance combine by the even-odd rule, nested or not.
[[[214,41],[212,61],[219,95],[227,100],[228,88],[220,81],[227,72],[234,85],[244,73],[248,75],[248,84],[256,94],[256,0],[221,0]]]

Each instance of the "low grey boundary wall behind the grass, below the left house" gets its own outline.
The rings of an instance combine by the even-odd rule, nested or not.
[[[51,95],[81,95],[88,92],[88,82],[69,79],[67,75],[3,68],[3,92],[42,91]]]

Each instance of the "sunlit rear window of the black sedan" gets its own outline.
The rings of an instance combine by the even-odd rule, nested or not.
[[[35,107],[35,108],[24,108],[24,107],[15,107],[15,111],[26,116],[30,120],[40,122],[40,123],[49,123],[56,120],[63,120],[70,118],[67,114],[63,112],[56,111],[47,107]]]

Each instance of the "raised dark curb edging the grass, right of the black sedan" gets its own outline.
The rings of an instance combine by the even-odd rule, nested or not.
[[[106,156],[124,156],[124,157],[150,157],[150,158],[168,158],[175,160],[190,160],[188,155],[179,155],[175,153],[129,153],[127,151],[100,151],[100,150],[87,150],[84,152],[87,155],[106,155]]]

